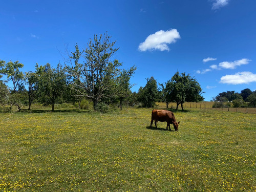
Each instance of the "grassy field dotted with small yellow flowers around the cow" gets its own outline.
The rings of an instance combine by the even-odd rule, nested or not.
[[[254,114],[151,111],[0,114],[0,191],[256,191]]]

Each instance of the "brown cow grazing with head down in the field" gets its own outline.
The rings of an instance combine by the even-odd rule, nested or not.
[[[150,127],[152,127],[152,123],[155,120],[155,125],[157,128],[157,121],[161,122],[167,122],[166,130],[170,130],[170,124],[174,124],[175,131],[178,131],[178,126],[180,122],[177,122],[174,113],[167,110],[153,110],[151,113],[151,124]],[[170,130],[171,131],[171,130]]]

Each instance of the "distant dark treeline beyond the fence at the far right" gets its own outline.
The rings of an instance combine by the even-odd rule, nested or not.
[[[233,106],[234,108],[243,108],[246,106],[256,107],[256,91],[244,89],[240,93],[235,91],[226,91],[219,93],[214,98],[214,107],[223,107],[225,105]]]

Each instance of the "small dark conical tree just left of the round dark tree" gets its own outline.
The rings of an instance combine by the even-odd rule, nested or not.
[[[158,88],[157,88],[157,81],[154,77],[150,79],[146,79],[147,83],[144,88],[140,87],[138,92],[138,100],[142,103],[142,106],[146,108],[152,108],[155,104],[157,99],[160,97]]]

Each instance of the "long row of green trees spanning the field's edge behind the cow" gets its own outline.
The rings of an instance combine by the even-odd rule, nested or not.
[[[10,110],[15,105],[20,110],[23,105],[31,109],[32,103],[51,105],[56,103],[78,103],[86,100],[93,103],[95,111],[106,111],[110,104],[134,107],[153,107],[157,101],[181,105],[184,102],[199,102],[202,89],[196,79],[189,74],[176,72],[164,84],[157,84],[154,77],[146,79],[145,87],[138,93],[131,91],[130,78],[136,67],[120,69],[122,63],[111,60],[118,48],[108,34],[94,35],[84,49],[75,46],[74,52],[67,51],[67,59],[61,65],[52,67],[49,63],[34,71],[23,73],[23,63],[0,60],[0,105]],[[1,79],[5,77],[5,80]],[[11,84],[11,86],[7,86]],[[1,110],[1,109],[0,109]]]

